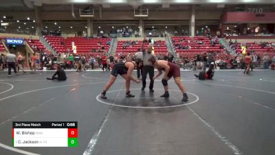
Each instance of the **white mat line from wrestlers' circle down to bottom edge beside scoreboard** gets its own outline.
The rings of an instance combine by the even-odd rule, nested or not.
[[[121,91],[122,87],[123,87],[123,85],[120,87],[120,90],[118,90],[118,94],[115,96],[115,100],[113,101],[113,103],[115,103],[115,101],[118,99],[118,96],[120,95],[120,91]],[[94,148],[96,146],[96,143],[98,142],[98,138],[100,136],[100,133],[102,132],[104,125],[106,124],[106,122],[109,119],[109,114],[111,113],[111,109],[112,109],[112,107],[110,107],[110,109],[108,110],[106,116],[104,116],[104,121],[100,125],[99,130],[94,134],[94,136],[91,137],[91,140],[89,141],[89,144],[87,145],[87,148],[85,149],[85,152],[83,153],[83,155],[93,154],[93,151],[94,151]]]

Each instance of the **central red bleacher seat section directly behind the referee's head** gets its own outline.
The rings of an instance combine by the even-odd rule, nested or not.
[[[116,53],[118,54],[129,54],[129,53],[135,53],[138,49],[142,49],[142,43],[143,41],[135,41],[135,44],[131,44],[131,46],[127,46],[126,49],[123,49],[124,43],[130,43],[131,41],[118,41],[118,47],[116,49]],[[144,47],[148,47],[149,43],[144,43]],[[167,54],[168,49],[165,46],[165,41],[155,41],[154,42],[154,52],[155,55],[158,54]]]

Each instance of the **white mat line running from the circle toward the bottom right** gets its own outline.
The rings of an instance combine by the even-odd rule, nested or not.
[[[214,127],[212,127],[212,125],[210,125],[209,123],[207,123],[206,121],[204,121],[203,118],[201,118],[201,116],[199,116],[194,110],[192,110],[189,106],[187,106],[188,109],[195,114],[195,116],[197,116],[197,118],[199,118],[199,121],[201,121],[204,125],[206,125],[218,138],[220,141],[222,141],[226,146],[228,146],[232,152],[234,152],[234,154],[236,155],[241,155],[243,153],[241,153],[241,151],[233,144],[231,143],[225,136],[223,136],[222,134],[220,134],[217,130],[214,129]]]

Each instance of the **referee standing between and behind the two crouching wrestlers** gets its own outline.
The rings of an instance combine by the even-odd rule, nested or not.
[[[154,81],[153,81],[153,76],[154,76],[154,64],[149,61],[151,57],[154,57],[155,60],[157,60],[157,57],[153,55],[151,48],[148,48],[142,52],[142,60],[143,60],[143,67],[142,67],[142,91],[144,91],[146,87],[146,76],[149,74],[150,77],[150,85],[149,89],[150,92],[154,92],[153,86],[154,86]],[[137,56],[140,57],[140,56]]]

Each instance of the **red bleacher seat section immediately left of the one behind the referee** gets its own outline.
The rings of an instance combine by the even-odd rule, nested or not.
[[[45,36],[46,41],[52,45],[52,48],[56,50],[56,52],[72,52],[72,42],[76,45],[76,51],[78,54],[92,54],[98,55],[103,54],[103,50],[101,50],[101,46],[104,46],[104,51],[109,50],[109,46],[107,42],[111,39],[107,38],[98,38],[98,39],[87,39],[84,37],[68,37],[64,39],[63,37],[53,37],[53,36]],[[99,44],[101,43],[101,45]],[[92,52],[92,50],[100,50],[100,52]]]

